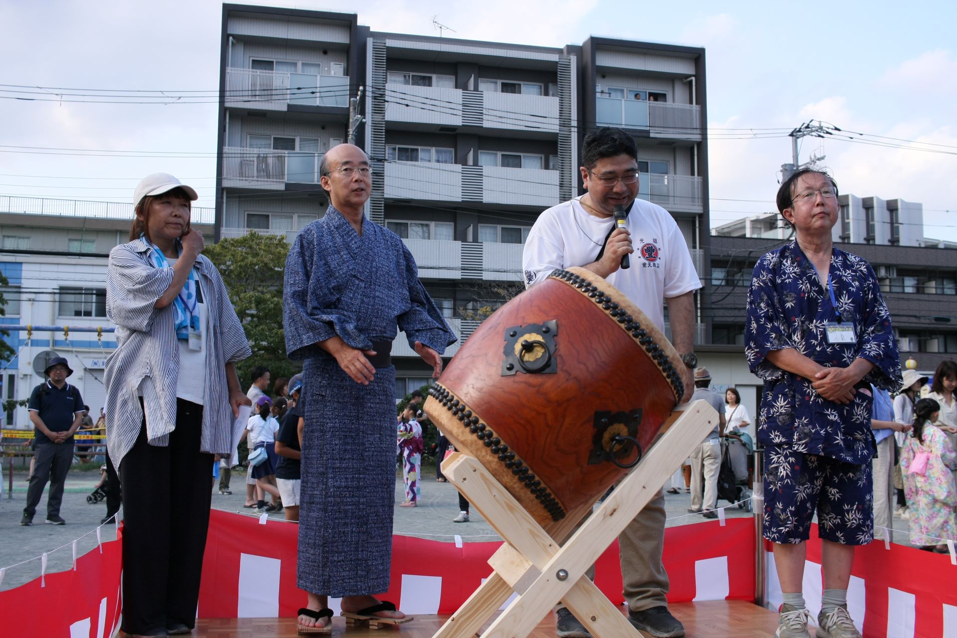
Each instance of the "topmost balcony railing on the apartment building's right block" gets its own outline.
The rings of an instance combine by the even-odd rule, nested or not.
[[[650,129],[656,137],[701,139],[701,106],[595,97],[599,126]]]

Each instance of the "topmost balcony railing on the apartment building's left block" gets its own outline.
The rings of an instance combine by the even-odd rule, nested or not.
[[[226,106],[285,111],[289,104],[348,106],[349,78],[226,69]]]

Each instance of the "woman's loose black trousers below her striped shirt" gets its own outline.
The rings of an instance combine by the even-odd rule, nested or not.
[[[126,633],[195,627],[211,503],[212,454],[199,451],[202,423],[202,406],[177,399],[169,445],[149,445],[144,421],[120,464]]]

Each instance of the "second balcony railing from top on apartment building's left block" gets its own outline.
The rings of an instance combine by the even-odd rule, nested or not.
[[[323,153],[264,148],[223,149],[223,186],[282,189],[285,184],[319,184]]]

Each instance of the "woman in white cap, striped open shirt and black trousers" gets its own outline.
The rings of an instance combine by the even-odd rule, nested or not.
[[[130,241],[110,251],[106,442],[123,490],[122,630],[195,626],[213,455],[228,457],[250,401],[234,363],[250,356],[222,277],[189,228],[196,191],[167,173],[136,187]],[[230,409],[232,407],[232,410]]]

